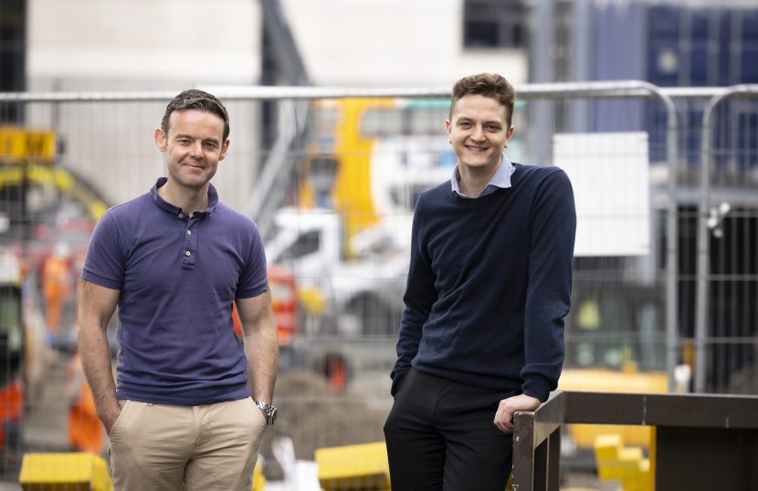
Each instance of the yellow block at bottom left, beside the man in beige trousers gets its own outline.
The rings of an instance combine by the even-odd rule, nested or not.
[[[24,491],[112,491],[108,465],[84,452],[25,454],[18,482]]]

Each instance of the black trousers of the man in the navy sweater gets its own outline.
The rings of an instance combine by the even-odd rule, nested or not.
[[[513,436],[492,420],[511,395],[409,371],[384,423],[393,491],[504,491]]]

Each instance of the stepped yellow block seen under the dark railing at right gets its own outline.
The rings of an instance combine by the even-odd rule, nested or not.
[[[650,491],[650,461],[639,447],[625,447],[618,434],[595,439],[595,463],[601,479],[618,479],[625,491]]]

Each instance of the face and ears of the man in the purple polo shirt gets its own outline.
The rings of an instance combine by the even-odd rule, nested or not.
[[[166,153],[170,183],[191,190],[202,189],[216,174],[226,156],[229,140],[223,141],[224,120],[204,110],[176,110],[171,114],[168,135],[155,130],[155,144]]]

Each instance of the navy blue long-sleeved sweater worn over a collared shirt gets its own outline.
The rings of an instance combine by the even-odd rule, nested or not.
[[[576,213],[565,172],[514,164],[511,187],[466,199],[442,183],[416,204],[392,371],[522,392],[555,389]]]

